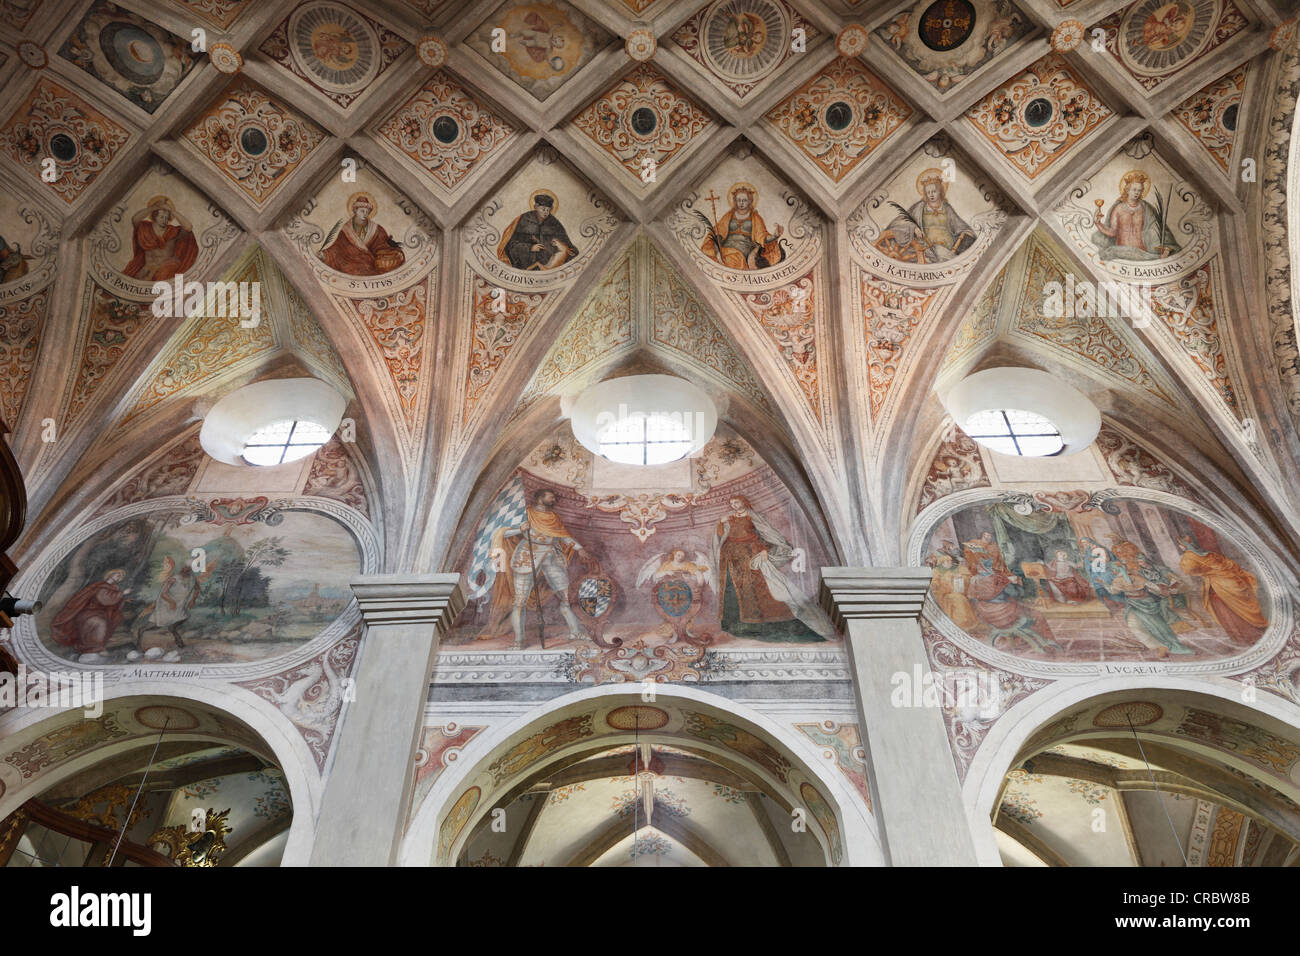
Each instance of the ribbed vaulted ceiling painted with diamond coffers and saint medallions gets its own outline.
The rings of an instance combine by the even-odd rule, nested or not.
[[[902,563],[936,390],[1005,363],[1295,554],[1287,7],[0,0],[20,555],[231,388],[306,373],[350,399],[385,566],[442,567],[562,397],[653,369],[719,398],[842,563]],[[952,248],[907,226],[936,172]],[[762,260],[714,241],[737,183]],[[1134,183],[1154,239],[1108,238]],[[370,274],[324,252],[359,193],[402,251]],[[502,250],[538,193],[571,252],[523,269]],[[151,311],[157,196],[186,278],[259,282],[269,321]],[[1148,307],[1045,312],[1074,281]]]

